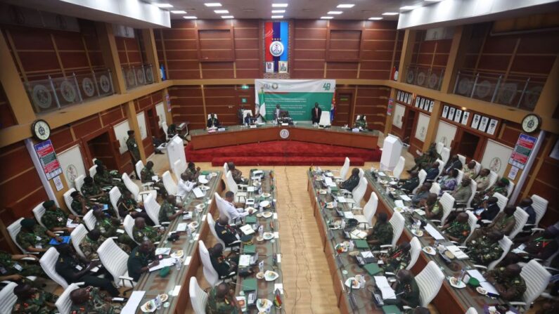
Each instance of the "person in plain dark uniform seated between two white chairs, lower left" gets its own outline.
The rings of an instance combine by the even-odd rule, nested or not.
[[[60,254],[56,261],[56,273],[62,276],[66,282],[85,282],[85,284],[106,290],[111,296],[118,296],[118,289],[113,285],[110,274],[103,272],[105,278],[97,277],[89,272],[91,268],[100,266],[100,261],[88,261],[82,256],[75,254],[68,243],[58,244],[56,250]]]

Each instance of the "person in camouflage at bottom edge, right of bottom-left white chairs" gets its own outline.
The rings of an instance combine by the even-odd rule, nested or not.
[[[113,306],[110,303],[110,297],[91,286],[70,292],[70,300],[72,301],[70,314],[117,314],[122,310],[121,306]]]

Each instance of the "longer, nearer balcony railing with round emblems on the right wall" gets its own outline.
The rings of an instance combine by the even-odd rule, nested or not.
[[[503,77],[503,74],[458,71],[454,93],[525,110],[534,110],[544,81],[530,77]]]

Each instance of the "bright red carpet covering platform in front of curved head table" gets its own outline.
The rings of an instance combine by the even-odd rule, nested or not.
[[[234,162],[238,166],[307,166],[320,164],[341,166],[345,157],[349,157],[352,166],[362,166],[364,162],[380,161],[380,150],[347,148],[297,142],[295,140],[277,140],[263,143],[251,143],[221,148],[193,150],[186,146],[186,160],[189,162],[212,162],[212,166],[222,166],[224,162]]]

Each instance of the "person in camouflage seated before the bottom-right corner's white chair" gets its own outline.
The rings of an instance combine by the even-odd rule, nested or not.
[[[526,292],[526,282],[520,276],[518,264],[489,270],[485,277],[495,286],[499,296],[506,301],[519,301]]]

